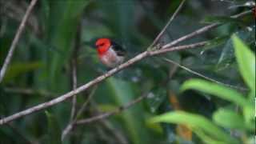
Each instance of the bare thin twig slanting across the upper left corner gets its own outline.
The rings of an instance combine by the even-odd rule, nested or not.
[[[34,7],[34,5],[36,4],[37,1],[38,0],[32,0],[30,2],[30,6],[27,8],[26,14],[24,15],[24,18],[22,19],[22,22],[18,27],[17,33],[15,34],[14,40],[10,45],[10,50],[9,50],[7,56],[6,56],[5,62],[3,63],[2,69],[0,71],[0,83],[2,82],[2,79],[4,78],[4,76],[6,74],[7,67],[10,64],[10,60],[11,60],[13,54],[14,54],[14,50],[15,50],[17,44],[18,44],[18,40],[19,40],[19,38],[22,34],[22,31],[24,30],[24,28],[26,26],[26,21],[29,18],[29,15],[30,15],[30,13],[31,13],[31,11],[32,11],[32,9],[33,9],[33,7]]]

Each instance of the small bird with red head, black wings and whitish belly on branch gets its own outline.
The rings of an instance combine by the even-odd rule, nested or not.
[[[113,68],[120,65],[126,56],[122,46],[110,40],[110,38],[98,38],[95,43],[98,57],[107,67]]]

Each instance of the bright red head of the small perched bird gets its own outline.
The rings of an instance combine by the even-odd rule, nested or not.
[[[109,50],[111,46],[111,42],[109,38],[98,38],[95,43],[97,47],[98,54],[104,54],[107,50]]]

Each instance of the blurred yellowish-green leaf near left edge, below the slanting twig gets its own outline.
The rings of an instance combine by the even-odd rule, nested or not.
[[[3,82],[9,82],[21,74],[26,74],[32,70],[37,70],[40,66],[42,66],[41,62],[15,62],[7,69]]]

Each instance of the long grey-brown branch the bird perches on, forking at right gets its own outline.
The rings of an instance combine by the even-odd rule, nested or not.
[[[238,14],[238,15],[233,16],[233,18],[238,18],[238,17],[241,17],[241,16],[243,16],[245,14],[249,14],[249,13],[251,13],[251,12],[246,11],[242,14]],[[203,27],[199,30],[196,30],[196,31],[194,31],[190,34],[187,34],[187,35],[183,36],[182,38],[178,38],[178,39],[174,40],[174,42],[170,42],[170,43],[166,44],[165,46],[162,46],[162,49],[160,49],[160,50],[150,51],[150,50],[147,49],[146,51],[142,52],[141,54],[138,54],[134,58],[131,58],[127,62],[123,63],[122,65],[117,66],[112,70],[109,70],[108,72],[106,72],[106,74],[102,74],[98,78],[95,78],[94,80],[91,80],[90,82],[87,82],[85,85],[82,85],[82,86],[78,87],[78,89],[76,89],[76,90],[72,90],[72,91],[70,91],[66,94],[63,94],[63,95],[59,96],[58,98],[54,98],[50,102],[43,102],[43,103],[39,104],[38,106],[33,106],[33,107],[31,107],[27,110],[22,110],[22,111],[20,111],[16,114],[13,114],[13,115],[10,115],[6,118],[0,119],[0,125],[3,125],[7,122],[11,122],[11,121],[13,121],[17,118],[22,118],[22,117],[24,117],[28,114],[32,114],[34,112],[37,112],[38,110],[43,110],[43,109],[46,109],[47,107],[54,106],[54,105],[58,104],[59,102],[65,101],[68,98],[72,98],[72,96],[74,96],[75,94],[79,94],[83,90],[87,90],[91,86],[94,86],[98,82],[102,82],[104,79],[110,77],[111,75],[117,73],[120,70],[125,69],[126,67],[128,67],[130,65],[133,65],[135,62],[138,62],[138,61],[142,60],[143,58],[154,56],[154,55],[157,55],[157,54],[163,54],[163,53],[170,52],[170,51],[186,50],[186,49],[194,48],[194,47],[197,47],[197,46],[204,46],[206,44],[206,42],[198,42],[198,43],[195,43],[195,44],[192,44],[192,45],[173,47],[174,45],[178,44],[179,42],[182,42],[182,41],[184,41],[188,38],[192,38],[192,37],[194,37],[198,34],[202,34],[206,31],[212,30],[214,27],[219,26],[219,25],[220,25],[219,23],[214,23],[212,25],[205,26],[205,27]],[[112,113],[116,113],[116,112],[114,111]],[[102,117],[107,117],[108,115],[111,115],[112,113],[104,114]]]

